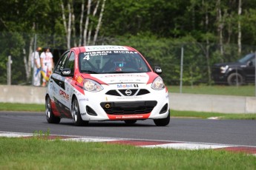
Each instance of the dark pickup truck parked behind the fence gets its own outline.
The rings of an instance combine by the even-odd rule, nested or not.
[[[211,70],[216,84],[243,85],[255,83],[255,53],[232,63],[214,64]]]

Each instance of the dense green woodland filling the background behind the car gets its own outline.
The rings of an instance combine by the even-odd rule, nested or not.
[[[51,47],[55,61],[62,51],[74,46],[133,46],[152,64],[168,70],[164,76],[169,84],[178,82],[179,65],[174,64],[179,64],[184,47],[186,81],[204,78],[204,83],[210,83],[212,64],[255,51],[255,9],[253,0],[2,1],[0,83],[6,82],[8,55],[13,57],[16,72],[13,84],[30,81],[28,56],[35,35],[37,45]],[[199,64],[205,66],[203,70]]]

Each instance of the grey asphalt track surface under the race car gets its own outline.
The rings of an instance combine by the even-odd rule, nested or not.
[[[70,119],[49,124],[42,112],[0,112],[0,132],[47,132],[50,135],[118,137],[138,140],[168,140],[194,143],[256,146],[256,120],[201,120],[171,118],[168,126],[155,126],[153,120],[127,125],[123,121],[90,122],[73,126]]]

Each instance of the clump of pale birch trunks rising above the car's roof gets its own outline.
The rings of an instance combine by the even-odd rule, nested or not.
[[[102,24],[102,17],[105,9],[105,1],[106,0],[88,0],[87,5],[85,5],[85,1],[72,1],[69,0],[66,4],[67,10],[65,10],[65,4],[61,1],[62,7],[62,21],[65,28],[65,34],[67,37],[67,48],[70,48],[71,44],[71,35],[73,34],[73,45],[79,44],[81,45],[89,45],[95,44],[99,29]],[[77,4],[81,6],[80,11],[74,11],[74,7]],[[101,10],[98,13],[99,4],[101,4]],[[85,11],[85,6],[87,10]],[[93,13],[91,13],[91,9],[93,8]],[[66,19],[66,15],[68,13],[68,19]],[[85,15],[86,13],[86,15]],[[97,15],[98,14],[98,15]],[[97,15],[97,16],[96,16]],[[79,21],[76,21],[76,16],[80,16]],[[84,21],[85,16],[85,21]],[[97,21],[97,24],[95,23]],[[76,23],[79,23],[79,27],[77,27]],[[94,33],[93,41],[91,41],[91,33]],[[79,35],[78,42],[76,41],[76,33]]]

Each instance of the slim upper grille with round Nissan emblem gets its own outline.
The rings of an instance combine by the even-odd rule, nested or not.
[[[130,93],[127,90],[131,90]],[[150,93],[148,89],[112,89],[106,92],[106,95],[115,95],[115,96],[137,96],[145,95]]]

